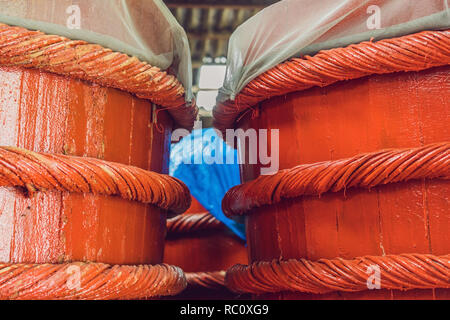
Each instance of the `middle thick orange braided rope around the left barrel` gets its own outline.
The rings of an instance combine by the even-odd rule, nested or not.
[[[0,147],[0,186],[29,193],[59,190],[120,196],[174,213],[191,203],[189,189],[176,178],[104,160]]]

